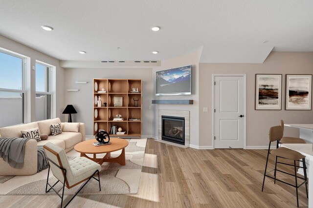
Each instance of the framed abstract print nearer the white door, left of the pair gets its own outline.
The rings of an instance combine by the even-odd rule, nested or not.
[[[282,74],[255,75],[255,109],[282,109]]]

